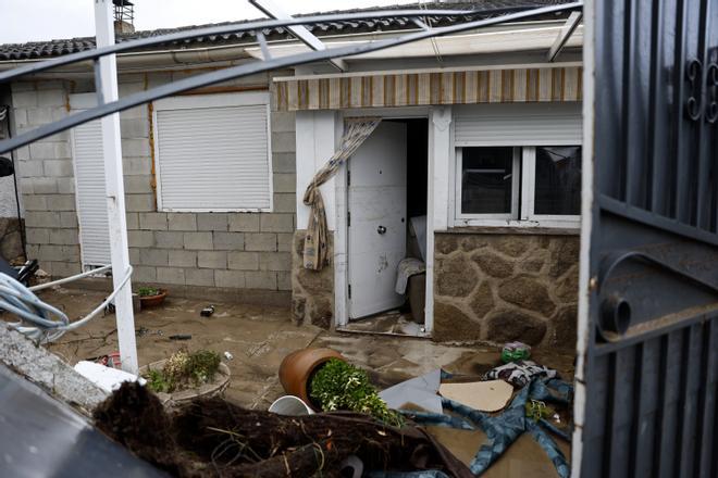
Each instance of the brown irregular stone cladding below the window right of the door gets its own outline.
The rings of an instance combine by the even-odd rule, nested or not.
[[[437,341],[575,344],[579,236],[436,234]]]

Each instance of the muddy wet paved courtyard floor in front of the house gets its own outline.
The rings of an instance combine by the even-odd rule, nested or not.
[[[72,320],[82,317],[99,304],[102,292],[58,288],[41,293],[41,298],[59,306]],[[277,379],[282,358],[306,347],[331,347],[351,363],[366,368],[374,383],[384,388],[416,377],[437,367],[458,375],[480,376],[499,363],[495,347],[458,347],[434,343],[429,339],[381,335],[329,332],[313,326],[292,324],[287,309],[213,303],[214,314],[201,317],[208,303],[197,300],[168,298],[157,309],[135,315],[139,365],[169,357],[181,348],[210,349],[233,358],[225,363],[232,370],[225,397],[249,408],[267,408],[283,394]],[[173,335],[191,335],[190,340],[171,340]],[[89,360],[117,350],[114,314],[100,316],[87,326],[66,334],[49,349],[70,364]],[[556,368],[562,378],[573,376],[573,355],[570,350],[534,350],[538,363]],[[484,436],[481,432],[432,432],[459,458],[470,462]],[[570,455],[568,443],[561,444]],[[556,476],[548,457],[529,436],[523,436],[483,476],[544,477]]]

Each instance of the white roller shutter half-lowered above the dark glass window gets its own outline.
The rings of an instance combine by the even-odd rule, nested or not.
[[[582,142],[581,103],[480,104],[454,112],[457,147]]]

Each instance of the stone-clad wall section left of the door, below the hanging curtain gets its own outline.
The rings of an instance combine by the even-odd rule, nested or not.
[[[313,324],[329,329],[334,318],[334,263],[322,271],[302,267],[305,236],[307,230],[294,235],[292,257],[292,317],[296,324]],[[330,235],[329,256],[333,253]]]

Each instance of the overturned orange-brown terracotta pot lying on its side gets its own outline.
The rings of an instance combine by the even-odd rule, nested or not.
[[[344,356],[333,349],[301,349],[292,352],[280,365],[282,387],[288,394],[299,397],[315,408],[309,398],[309,383],[314,372],[331,358],[345,361]]]

